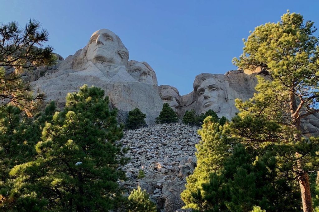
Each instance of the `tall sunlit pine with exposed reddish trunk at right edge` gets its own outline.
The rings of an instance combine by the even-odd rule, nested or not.
[[[247,102],[238,100],[237,106],[243,113],[266,116],[285,129],[286,138],[281,141],[295,149],[289,163],[299,181],[305,212],[313,211],[308,173],[318,170],[316,155],[306,150],[310,146],[318,149],[318,141],[302,137],[300,125],[303,118],[319,112],[319,39],[315,31],[314,22],[304,22],[302,15],[288,11],[280,22],[256,27],[244,40],[243,54],[233,60],[240,68],[262,67],[271,75],[272,81],[258,77],[258,93]]]

